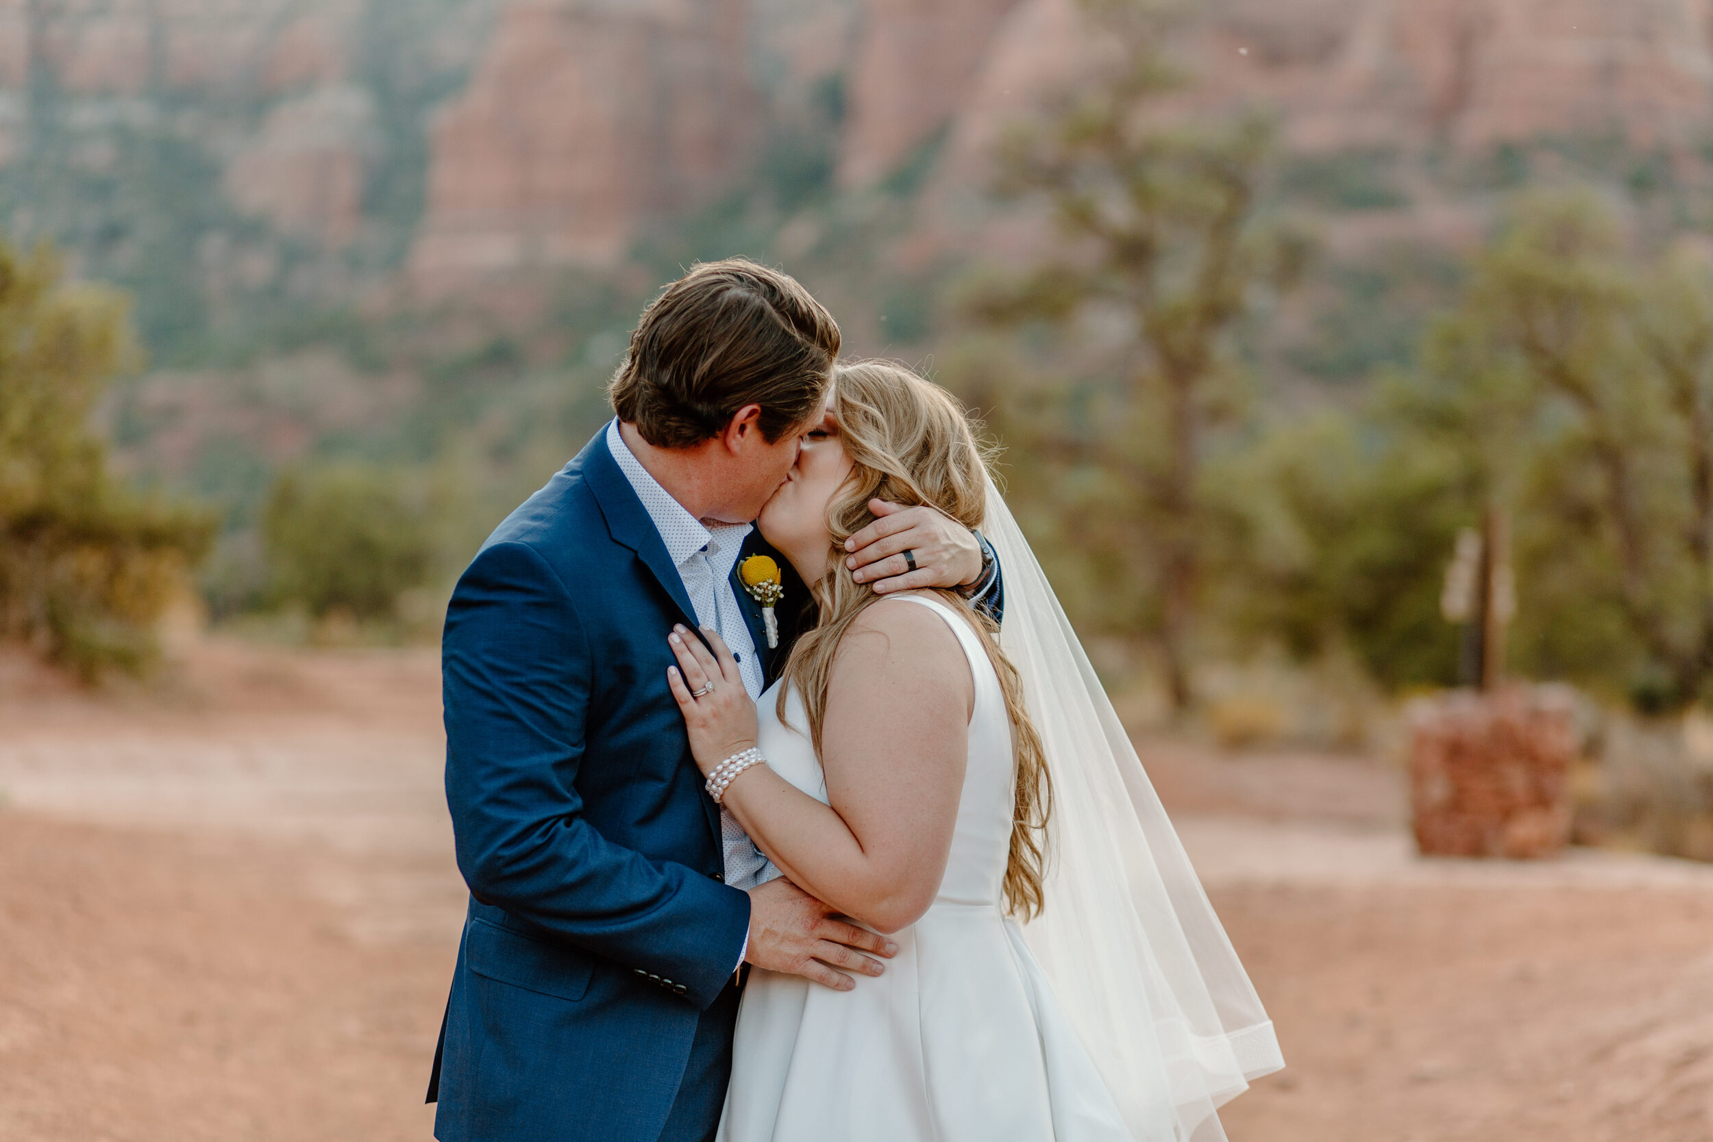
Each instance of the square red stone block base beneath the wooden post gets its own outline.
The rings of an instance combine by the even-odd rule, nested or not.
[[[1454,692],[1410,716],[1410,801],[1424,856],[1555,856],[1571,836],[1576,711],[1550,687]]]

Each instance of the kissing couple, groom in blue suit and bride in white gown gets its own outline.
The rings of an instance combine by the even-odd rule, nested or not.
[[[961,406],[747,260],[444,632],[442,1142],[1221,1139],[1283,1065]]]

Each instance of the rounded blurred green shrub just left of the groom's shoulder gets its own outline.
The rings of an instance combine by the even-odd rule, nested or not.
[[[283,473],[262,512],[262,544],[272,601],[315,618],[396,618],[399,596],[433,565],[427,503],[397,474],[365,464]]]

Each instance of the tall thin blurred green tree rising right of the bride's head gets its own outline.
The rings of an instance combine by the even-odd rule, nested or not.
[[[1173,705],[1194,699],[1191,657],[1204,603],[1213,433],[1235,423],[1247,373],[1237,334],[1257,291],[1288,286],[1307,241],[1261,216],[1273,130],[1259,116],[1163,115],[1184,77],[1160,55],[1163,9],[1089,0],[1113,63],[1000,151],[1000,187],[1045,199],[1064,236],[1016,281],[973,291],[1000,324],[1074,329],[1108,344],[1095,380],[995,426],[1043,459],[1047,495],[1081,524],[1076,544],[1110,587],[1148,599],[1108,606],[1158,635]]]

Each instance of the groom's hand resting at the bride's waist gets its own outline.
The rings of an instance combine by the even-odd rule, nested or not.
[[[750,943],[745,961],[767,971],[803,976],[812,983],[850,991],[856,981],[845,974],[879,976],[880,961],[898,945],[867,928],[841,919],[831,907],[790,880],[769,880],[750,889]],[[845,971],[836,971],[843,967]]]

